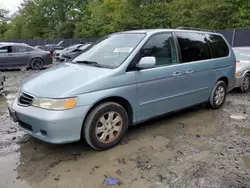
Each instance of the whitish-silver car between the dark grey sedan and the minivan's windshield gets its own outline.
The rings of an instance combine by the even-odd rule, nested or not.
[[[54,52],[54,57],[57,61],[64,61],[64,60],[67,60],[68,56],[78,50],[79,48],[81,48],[82,46],[84,46],[84,44],[74,44],[72,46],[69,46],[67,48],[64,48],[63,50],[56,50]]]

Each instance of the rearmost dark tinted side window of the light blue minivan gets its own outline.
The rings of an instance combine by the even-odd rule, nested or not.
[[[207,34],[210,48],[214,58],[227,57],[229,49],[225,40],[219,35]]]

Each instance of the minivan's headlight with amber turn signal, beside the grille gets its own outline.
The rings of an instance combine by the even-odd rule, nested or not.
[[[35,98],[32,102],[32,106],[49,110],[67,110],[75,106],[77,97],[67,99],[46,99]]]

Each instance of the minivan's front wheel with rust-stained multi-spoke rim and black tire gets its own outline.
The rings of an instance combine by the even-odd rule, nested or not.
[[[87,116],[82,135],[92,148],[107,150],[120,143],[128,124],[126,110],[117,103],[106,102],[95,107]]]

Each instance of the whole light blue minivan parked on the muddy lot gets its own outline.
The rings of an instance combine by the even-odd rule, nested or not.
[[[72,62],[22,84],[9,107],[20,128],[55,144],[84,138],[96,150],[117,145],[131,125],[190,106],[220,108],[235,84],[235,55],[215,32],[119,32]]]

